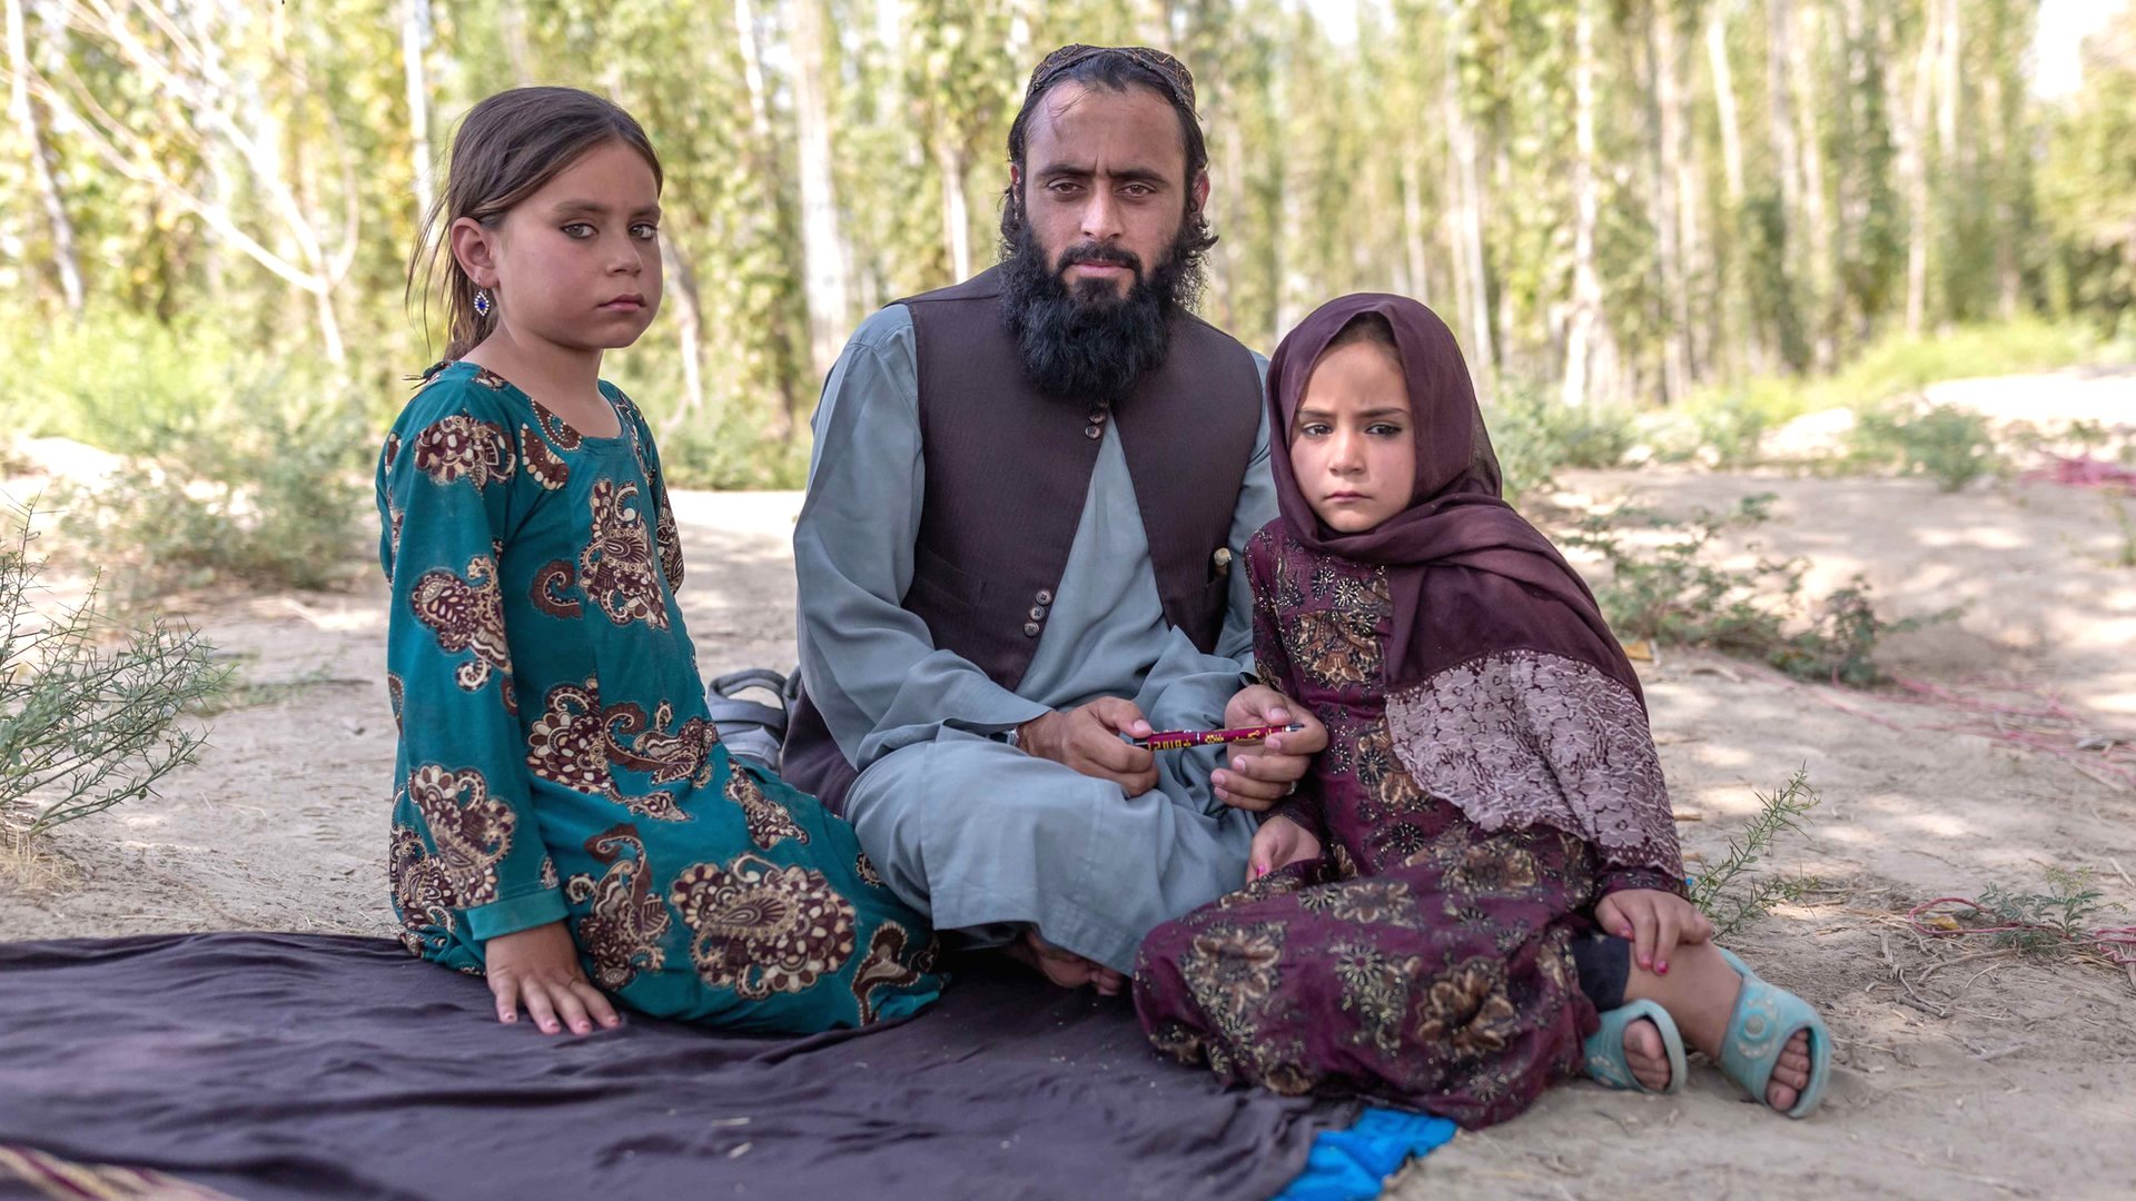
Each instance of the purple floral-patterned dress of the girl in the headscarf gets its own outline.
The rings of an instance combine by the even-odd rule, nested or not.
[[[1271,526],[1247,543],[1247,575],[1256,665],[1329,729],[1294,810],[1322,855],[1143,940],[1134,1000],[1151,1043],[1232,1081],[1504,1122],[1585,1062],[1596,1013],[1570,947],[1591,930],[1602,872],[1649,880],[1549,823],[1485,829],[1408,761],[1380,682],[1393,626],[1382,573]],[[1440,712],[1493,722],[1502,709],[1463,709],[1497,695],[1482,682],[1438,697]],[[1521,703],[1553,701],[1527,690]],[[1593,690],[1568,688],[1566,705],[1617,720]],[[1491,729],[1525,729],[1525,712],[1504,714]],[[1553,729],[1585,729],[1572,714]],[[1467,727],[1440,729],[1461,757]],[[1245,930],[1252,953],[1232,949]]]

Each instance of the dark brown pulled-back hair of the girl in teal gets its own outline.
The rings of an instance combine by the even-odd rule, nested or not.
[[[474,280],[453,256],[453,222],[474,218],[496,229],[513,205],[538,192],[581,154],[609,141],[637,150],[654,169],[654,186],[662,186],[660,156],[645,128],[619,105],[592,92],[513,88],[474,105],[459,122],[444,190],[423,214],[423,237],[408,256],[408,299],[414,299],[421,274],[425,327],[429,297],[444,293],[446,359],[472,350],[496,325],[496,316],[474,312]],[[446,263],[442,286],[438,259]]]

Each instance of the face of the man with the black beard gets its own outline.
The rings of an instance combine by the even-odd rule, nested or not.
[[[1149,88],[1062,83],[1034,113],[1017,177],[1038,250],[1079,301],[1119,301],[1164,263],[1209,180],[1188,182],[1179,115]]]

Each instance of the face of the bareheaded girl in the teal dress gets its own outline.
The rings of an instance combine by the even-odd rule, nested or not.
[[[453,222],[453,252],[515,338],[568,350],[630,346],[660,312],[660,186],[645,158],[609,141],[496,229]]]

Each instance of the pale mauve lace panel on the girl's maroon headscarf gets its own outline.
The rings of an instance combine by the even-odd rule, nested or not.
[[[1386,724],[1410,776],[1482,829],[1549,825],[1606,863],[1683,874],[1647,712],[1593,667],[1474,658],[1391,695]]]

